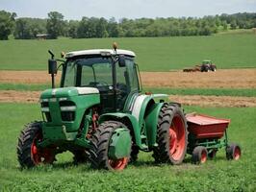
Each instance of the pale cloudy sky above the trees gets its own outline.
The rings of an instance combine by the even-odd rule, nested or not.
[[[0,0],[0,10],[18,17],[46,18],[57,11],[64,19],[83,16],[126,18],[201,17],[220,13],[256,12],[256,0]]]

